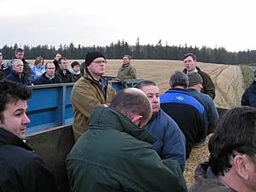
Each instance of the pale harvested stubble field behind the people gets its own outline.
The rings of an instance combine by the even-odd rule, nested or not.
[[[121,63],[121,60],[109,60],[106,74],[115,76]],[[183,70],[183,61],[133,60],[132,64],[137,69],[137,78],[153,80],[159,84],[161,93],[170,88],[168,82],[171,74]],[[214,102],[218,107],[234,108],[240,105],[243,78],[239,66],[201,62],[197,66],[211,76],[216,86]]]

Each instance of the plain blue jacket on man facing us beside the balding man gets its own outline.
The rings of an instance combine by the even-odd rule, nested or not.
[[[177,160],[182,171],[186,161],[186,140],[177,123],[162,109],[149,120],[145,129],[156,139],[154,150],[162,160]]]

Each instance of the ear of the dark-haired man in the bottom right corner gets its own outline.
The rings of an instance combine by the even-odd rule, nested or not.
[[[233,166],[236,173],[244,180],[248,179],[249,160],[246,154],[237,154],[233,159]]]

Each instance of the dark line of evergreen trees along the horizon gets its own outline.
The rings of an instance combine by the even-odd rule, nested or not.
[[[18,44],[14,46],[4,45],[0,51],[3,53],[4,59],[8,60],[14,57],[15,49]],[[186,53],[194,53],[197,56],[197,61],[221,63],[221,64],[251,64],[256,63],[256,50],[247,50],[239,52],[230,52],[220,48],[209,48],[203,46],[192,47],[185,45],[163,45],[161,40],[157,44],[142,45],[137,38],[135,45],[129,45],[125,40],[118,41],[115,44],[107,46],[84,46],[79,44],[77,47],[73,43],[60,44],[58,48],[52,45],[38,45],[35,47],[23,45],[21,47],[25,51],[26,59],[33,60],[37,56],[43,56],[44,59],[53,59],[56,53],[67,57],[68,59],[83,59],[89,51],[100,51],[108,59],[121,59],[123,55],[131,55],[133,59],[147,59],[147,60],[183,60],[183,55]]]

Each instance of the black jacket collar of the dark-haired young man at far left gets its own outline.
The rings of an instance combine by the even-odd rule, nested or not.
[[[24,143],[19,137],[15,136],[9,131],[0,128],[0,146],[1,145],[15,145],[20,148],[25,148],[26,150],[32,151],[26,143]]]

